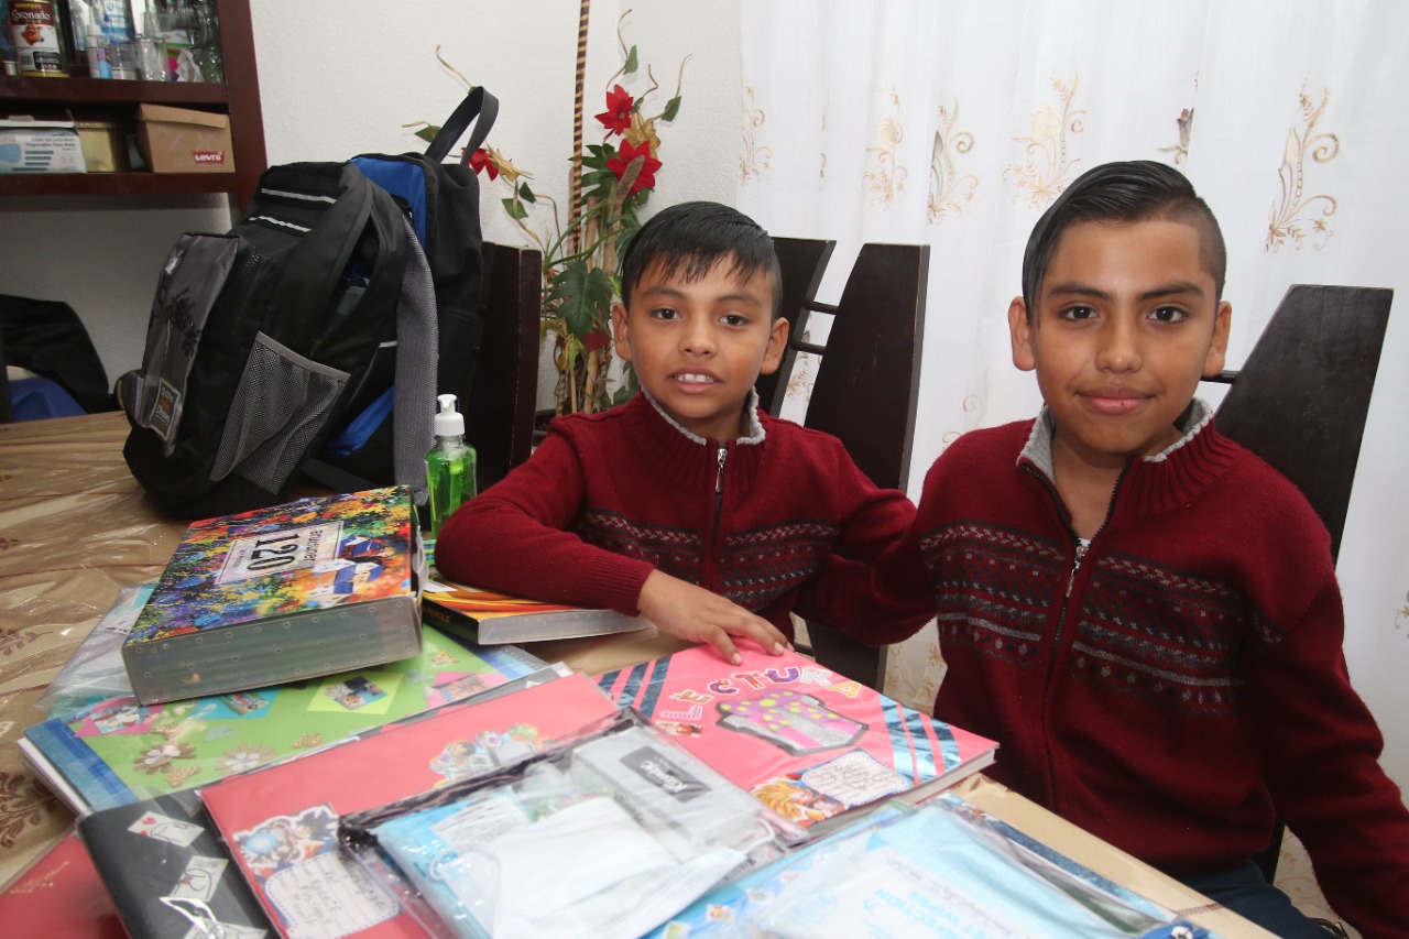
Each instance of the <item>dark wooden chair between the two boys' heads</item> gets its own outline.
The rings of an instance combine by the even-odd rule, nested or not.
[[[836,243],[774,238],[774,245],[790,326],[782,367],[758,382],[759,400],[776,416],[797,352],[820,357],[803,423],[838,437],[876,485],[905,489],[919,399],[929,245],[864,245],[837,305],[816,299]],[[833,317],[826,345],[805,338],[814,312]],[[865,646],[819,623],[807,625],[807,637],[819,663],[876,689],[885,684],[885,647]]]

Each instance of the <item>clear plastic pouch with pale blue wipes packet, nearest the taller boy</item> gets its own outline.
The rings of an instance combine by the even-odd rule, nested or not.
[[[650,939],[1208,939],[954,795],[875,815],[702,897]]]

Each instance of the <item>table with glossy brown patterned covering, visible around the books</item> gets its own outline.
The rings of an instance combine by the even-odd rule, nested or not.
[[[73,822],[20,763],[15,742],[45,718],[35,701],[118,589],[161,575],[186,529],[163,517],[132,479],[123,462],[125,438],[127,420],[118,413],[0,424],[0,884]],[[528,646],[588,674],[682,647],[668,636]],[[955,791],[1222,936],[1271,935],[986,777],[971,777]]]

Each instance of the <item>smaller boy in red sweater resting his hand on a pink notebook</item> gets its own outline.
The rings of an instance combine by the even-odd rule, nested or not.
[[[772,238],[733,209],[692,202],[647,221],[613,307],[640,393],[554,420],[527,462],[447,520],[437,568],[640,612],[731,661],[731,636],[781,653],[793,609],[831,622],[809,581],[841,558],[874,560],[914,506],[876,488],[836,437],[758,407],[754,382],[788,341],[779,286]]]

